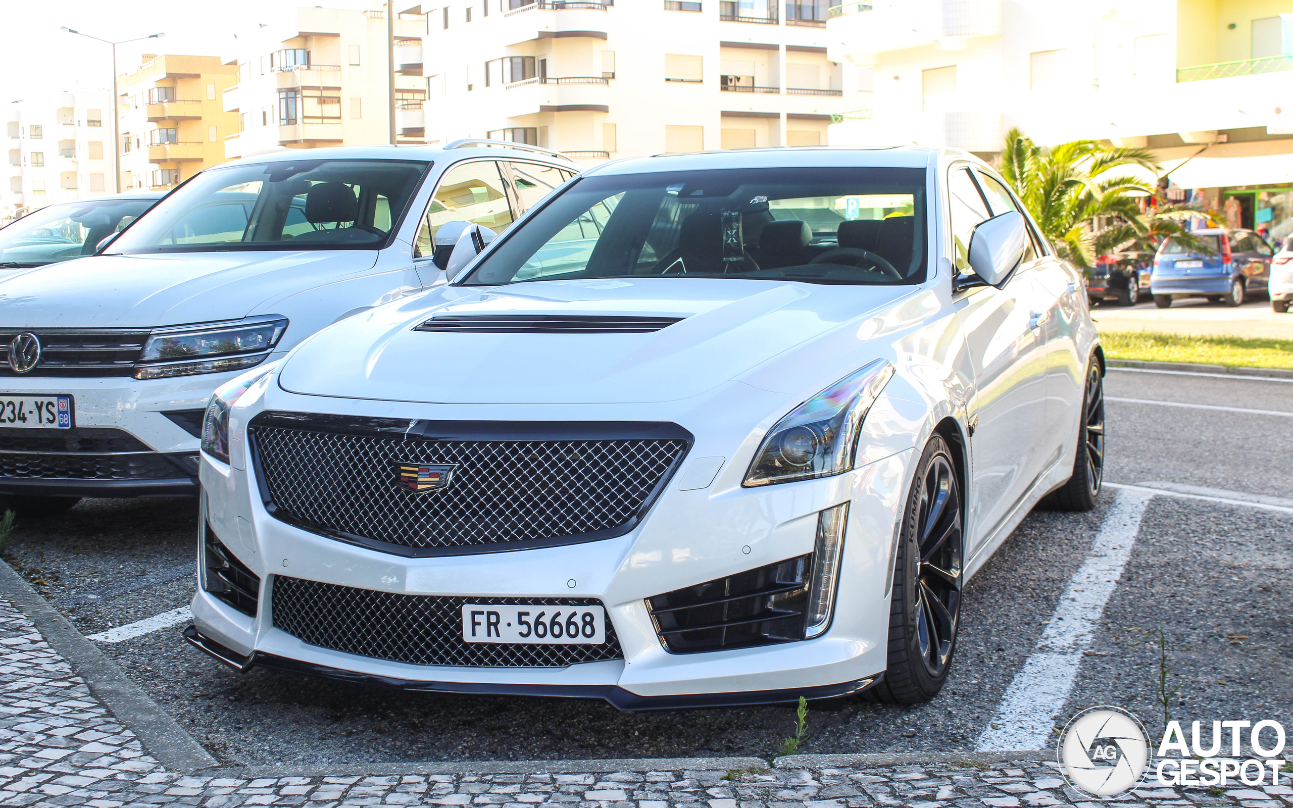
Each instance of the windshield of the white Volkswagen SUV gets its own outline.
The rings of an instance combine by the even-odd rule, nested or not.
[[[380,250],[428,165],[303,159],[204,171],[107,252]]]

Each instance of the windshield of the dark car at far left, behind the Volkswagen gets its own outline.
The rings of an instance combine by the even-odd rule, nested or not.
[[[98,243],[134,221],[156,199],[52,204],[0,229],[0,266],[40,266],[94,255]]]

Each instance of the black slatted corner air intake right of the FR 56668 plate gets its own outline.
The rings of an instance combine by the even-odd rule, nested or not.
[[[675,654],[804,639],[812,555],[646,599],[656,631]]]

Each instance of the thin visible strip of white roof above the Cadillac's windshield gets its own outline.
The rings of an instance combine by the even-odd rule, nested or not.
[[[957,156],[961,156],[958,150],[940,150],[923,146],[794,146],[696,151],[690,154],[657,154],[644,158],[626,158],[588,168],[583,172],[583,176],[716,168],[926,168],[932,155],[939,153],[950,154],[953,151],[956,151]]]

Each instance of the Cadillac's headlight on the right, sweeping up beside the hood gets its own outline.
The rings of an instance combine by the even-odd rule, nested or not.
[[[813,480],[853,468],[862,419],[892,375],[887,359],[875,359],[795,407],[763,438],[741,485]]]

